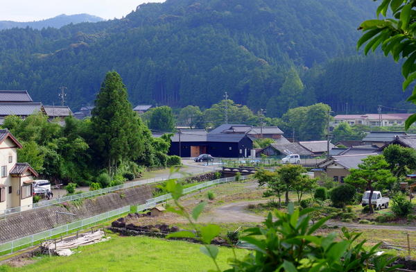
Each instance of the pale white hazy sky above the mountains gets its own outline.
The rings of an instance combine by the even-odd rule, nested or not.
[[[164,0],[0,0],[0,21],[37,21],[60,15],[89,13],[104,19],[127,15],[141,3]]]

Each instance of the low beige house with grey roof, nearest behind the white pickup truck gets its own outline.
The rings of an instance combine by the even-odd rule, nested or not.
[[[361,164],[363,159],[369,155],[378,155],[378,153],[333,156],[320,162],[317,168],[312,169],[312,171],[315,178],[322,176],[322,173],[327,173],[327,177],[334,181],[344,182],[344,178],[349,175],[350,170],[357,169],[358,164]]]

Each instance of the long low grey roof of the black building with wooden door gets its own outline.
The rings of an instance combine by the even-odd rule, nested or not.
[[[241,139],[247,137],[245,134],[190,134],[190,133],[182,133],[180,135],[181,142],[240,142]],[[250,139],[250,137],[248,137]],[[172,142],[179,142],[179,135],[175,133],[173,137],[171,137]]]

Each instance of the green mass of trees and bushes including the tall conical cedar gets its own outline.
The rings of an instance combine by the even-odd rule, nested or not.
[[[97,95],[91,119],[67,117],[48,121],[42,113],[26,119],[6,117],[3,128],[22,142],[20,162],[29,162],[44,178],[89,185],[100,174],[115,185],[132,179],[144,167],[166,167],[180,160],[166,155],[169,135],[153,138],[132,110],[127,90],[115,71],[107,73]],[[102,178],[102,177],[101,177]]]

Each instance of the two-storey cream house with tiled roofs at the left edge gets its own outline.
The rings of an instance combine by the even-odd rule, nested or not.
[[[21,147],[8,130],[0,130],[0,212],[12,207],[32,207],[32,182],[37,173],[29,164],[17,162],[17,148]]]

